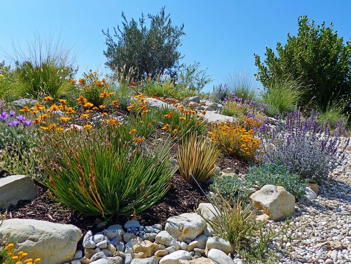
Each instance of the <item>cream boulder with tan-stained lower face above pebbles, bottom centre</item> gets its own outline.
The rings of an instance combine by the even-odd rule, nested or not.
[[[165,230],[178,241],[193,241],[206,227],[205,220],[196,213],[185,213],[167,219]]]

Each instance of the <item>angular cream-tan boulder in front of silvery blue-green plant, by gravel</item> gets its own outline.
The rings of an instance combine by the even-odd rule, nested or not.
[[[264,185],[250,198],[257,209],[270,216],[273,221],[290,216],[295,211],[294,196],[282,186]]]

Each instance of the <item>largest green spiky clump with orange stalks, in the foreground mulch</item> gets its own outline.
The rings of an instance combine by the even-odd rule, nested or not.
[[[169,142],[148,151],[95,144],[64,153],[47,166],[45,185],[57,202],[85,215],[130,216],[155,204],[168,190]]]

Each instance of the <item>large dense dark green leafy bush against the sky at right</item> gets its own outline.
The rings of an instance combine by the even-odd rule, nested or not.
[[[310,86],[304,102],[312,99],[322,109],[330,100],[337,100],[351,90],[351,42],[339,37],[337,31],[325,26],[310,23],[307,16],[298,18],[297,36],[287,35],[286,44],[277,43],[277,55],[266,47],[264,63],[255,55],[258,67],[256,77],[264,87],[272,80],[299,80]]]

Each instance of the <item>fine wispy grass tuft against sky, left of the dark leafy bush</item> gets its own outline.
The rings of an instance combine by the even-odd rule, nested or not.
[[[255,99],[257,90],[254,84],[255,79],[250,71],[244,72],[241,70],[239,72],[234,70],[227,74],[224,79],[231,93],[235,93],[243,99],[248,99],[248,97],[252,100]]]

